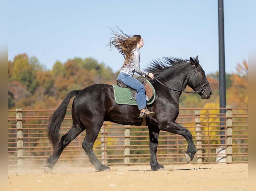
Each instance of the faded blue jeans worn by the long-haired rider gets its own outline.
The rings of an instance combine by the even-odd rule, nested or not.
[[[136,99],[139,110],[146,108],[146,90],[145,87],[140,83],[140,81],[123,72],[119,73],[117,80],[120,80],[129,88],[137,91]]]

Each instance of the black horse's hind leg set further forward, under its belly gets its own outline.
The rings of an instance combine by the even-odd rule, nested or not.
[[[91,121],[90,125],[86,125],[88,128],[86,128],[85,139],[82,143],[83,149],[85,150],[90,161],[93,163],[95,169],[98,172],[104,171],[104,170],[110,170],[108,166],[101,164],[101,162],[97,159],[97,157],[93,152],[93,144],[98,137],[102,124],[103,124],[103,121],[101,121],[101,123],[98,123],[98,124]]]

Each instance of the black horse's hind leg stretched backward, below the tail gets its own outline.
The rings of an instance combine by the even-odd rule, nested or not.
[[[44,171],[51,173],[53,166],[56,164],[60,154],[68,144],[74,140],[85,128],[82,128],[80,124],[73,124],[71,129],[61,137],[59,146],[56,151],[47,159],[48,165],[44,166]]]

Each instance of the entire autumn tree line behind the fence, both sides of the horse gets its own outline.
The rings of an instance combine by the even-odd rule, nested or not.
[[[52,70],[46,70],[37,58],[19,54],[9,61],[9,109],[55,109],[72,90],[92,84],[116,84],[114,73],[104,63],[92,58],[74,58],[65,63],[56,61]],[[226,74],[227,105],[248,106],[248,65],[244,61],[236,67],[237,73]],[[206,71],[207,72],[207,71]],[[183,93],[180,106],[204,107],[219,104],[219,74],[207,76],[213,95],[201,99],[198,95]],[[212,104],[209,104],[212,103]]]

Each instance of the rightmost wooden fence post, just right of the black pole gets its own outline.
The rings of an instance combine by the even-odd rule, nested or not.
[[[232,163],[232,109],[230,105],[226,106],[226,133],[227,133],[227,163]]]

